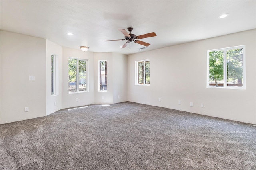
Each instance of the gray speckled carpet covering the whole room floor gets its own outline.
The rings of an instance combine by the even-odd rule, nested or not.
[[[1,170],[255,170],[256,127],[123,102],[0,125]]]

